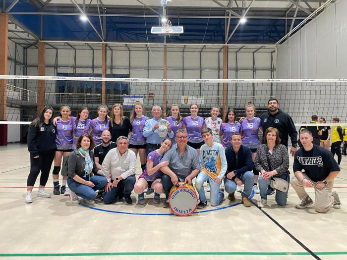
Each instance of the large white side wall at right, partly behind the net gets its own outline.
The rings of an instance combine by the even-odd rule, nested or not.
[[[346,78],[347,1],[338,0],[278,48],[278,78]],[[347,117],[346,83],[287,84],[276,97],[294,121],[310,121],[312,114]]]

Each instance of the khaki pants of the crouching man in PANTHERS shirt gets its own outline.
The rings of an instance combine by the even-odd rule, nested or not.
[[[316,188],[316,182],[312,181],[305,173],[302,174],[307,180],[313,183],[315,195],[314,207],[316,208],[316,211],[319,213],[328,212],[329,209],[334,205],[334,197],[331,195],[333,192],[334,181],[329,182],[323,189],[318,190]],[[290,185],[293,187],[300,200],[306,198],[307,193],[305,188],[295,176],[291,178]]]

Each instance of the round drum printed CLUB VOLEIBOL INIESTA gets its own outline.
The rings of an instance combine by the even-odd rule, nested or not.
[[[169,206],[177,216],[189,216],[198,207],[198,197],[192,185],[178,182],[169,196]]]

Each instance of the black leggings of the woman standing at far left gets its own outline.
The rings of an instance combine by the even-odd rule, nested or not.
[[[40,170],[40,185],[46,186],[48,177],[50,176],[50,170],[54,159],[54,155],[55,152],[46,153],[40,154],[38,158],[34,158],[34,156],[30,154],[30,173],[26,182],[27,186],[34,186],[37,176],[39,176]]]

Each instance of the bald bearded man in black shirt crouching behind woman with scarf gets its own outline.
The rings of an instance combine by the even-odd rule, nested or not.
[[[95,157],[95,164],[96,166],[101,169],[101,164],[103,164],[103,161],[105,159],[105,156],[107,153],[117,147],[117,144],[115,142],[111,141],[111,133],[109,130],[105,130],[101,134],[101,141],[102,143],[100,145],[97,145],[94,147],[94,157]],[[102,201],[103,200],[103,193],[104,189],[98,192],[98,195],[96,196],[96,201]]]

